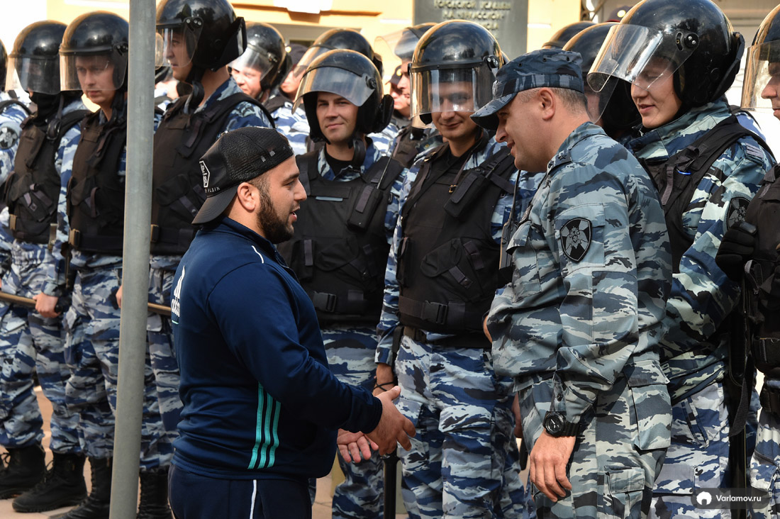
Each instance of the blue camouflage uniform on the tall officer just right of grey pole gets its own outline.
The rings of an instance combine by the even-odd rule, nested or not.
[[[195,113],[207,109],[215,102],[241,92],[232,77],[225,81],[207,100],[196,108]],[[185,111],[189,111],[189,106]],[[250,126],[270,127],[268,117],[256,105],[241,102],[230,112],[225,127],[218,135]],[[200,177],[199,177],[200,178]],[[178,255],[156,255],[150,257],[149,301],[167,307],[171,306],[173,276],[182,257]],[[168,467],[172,461],[173,441],[179,436],[176,425],[182,401],[179,398],[179,366],[173,348],[171,318],[150,312],[147,318],[147,345],[154,371],[154,384],[161,414],[163,435],[159,439],[159,466]]]

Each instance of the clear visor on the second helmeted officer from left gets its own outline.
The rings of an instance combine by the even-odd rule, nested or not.
[[[60,84],[63,91],[115,91],[125,82],[127,56],[104,54],[60,55]]]

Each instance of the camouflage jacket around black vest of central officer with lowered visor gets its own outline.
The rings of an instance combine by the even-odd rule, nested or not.
[[[468,160],[466,160],[466,165],[464,165],[463,169],[476,168],[483,162],[490,160],[490,158],[498,150],[503,148],[504,145],[505,144],[499,144],[494,139],[491,139],[484,149],[477,151],[470,158],[468,158]],[[438,148],[431,148],[431,152],[435,149]],[[412,184],[417,178],[417,173],[420,171],[420,166],[422,165],[425,156],[427,156],[427,154],[418,155],[417,162],[415,162],[414,165],[410,168],[409,174],[406,176],[406,182],[404,183],[403,189],[401,191],[401,205],[403,205],[403,202],[410,193]],[[529,174],[523,172],[522,175],[518,175],[518,173],[515,172],[512,174],[510,180],[517,183],[518,191],[515,214],[523,212],[523,204],[530,200],[530,194],[536,190],[536,187],[541,180],[541,176],[541,173]],[[502,194],[500,197],[498,197],[498,202],[495,205],[495,211],[493,212],[491,219],[491,231],[497,244],[501,243],[502,227],[504,226],[505,222],[509,220],[511,215],[512,195]],[[401,222],[399,221],[395,226],[392,247],[390,248],[390,255],[388,257],[388,266],[385,270],[385,296],[382,304],[381,318],[377,327],[379,342],[377,347],[377,354],[376,357],[374,357],[374,360],[383,364],[392,364],[394,361],[392,353],[392,335],[395,331],[395,328],[397,328],[399,325],[399,285],[398,281],[395,279],[395,257],[398,255],[398,247],[402,237],[402,226]],[[496,258],[496,261],[498,261],[498,258]],[[432,332],[427,333],[427,338],[429,340],[434,340],[441,337],[442,336],[440,334]]]

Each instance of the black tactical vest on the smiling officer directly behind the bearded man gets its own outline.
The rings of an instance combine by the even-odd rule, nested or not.
[[[296,212],[295,236],[278,251],[314,303],[321,324],[376,325],[390,246],[385,215],[402,165],[382,157],[363,175],[339,182],[317,171],[318,151],[296,162],[307,200]]]

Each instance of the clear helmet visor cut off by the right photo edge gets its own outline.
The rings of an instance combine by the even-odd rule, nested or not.
[[[780,108],[780,41],[751,45],[747,49],[742,84],[742,108],[773,112]]]

